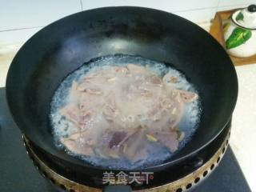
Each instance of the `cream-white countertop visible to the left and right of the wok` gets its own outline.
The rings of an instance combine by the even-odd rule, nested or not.
[[[0,87],[20,45],[0,46]],[[256,191],[256,64],[237,66],[238,102],[233,114],[230,146],[252,191]],[[1,98],[0,98],[1,99]]]

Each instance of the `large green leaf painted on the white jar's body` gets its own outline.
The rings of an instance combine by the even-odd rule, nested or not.
[[[250,30],[236,27],[232,31],[232,34],[230,34],[230,37],[226,39],[226,49],[230,50],[231,48],[240,46],[242,45],[242,43],[245,43],[246,41],[248,41],[250,37],[251,37]]]

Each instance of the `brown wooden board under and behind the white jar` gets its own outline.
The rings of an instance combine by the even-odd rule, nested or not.
[[[215,14],[214,20],[210,26],[210,34],[226,49],[225,40],[224,40],[224,34],[223,34],[223,23],[225,23],[232,13],[236,10],[224,10],[219,11]],[[252,64],[256,63],[256,55],[250,57],[250,58],[236,58],[234,56],[230,55],[230,58],[232,62],[234,63],[234,66],[241,66],[246,64]]]

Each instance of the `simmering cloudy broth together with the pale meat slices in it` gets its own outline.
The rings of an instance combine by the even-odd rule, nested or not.
[[[160,163],[196,130],[197,93],[184,74],[161,62],[129,55],[94,59],[54,94],[50,122],[56,146],[112,169]]]

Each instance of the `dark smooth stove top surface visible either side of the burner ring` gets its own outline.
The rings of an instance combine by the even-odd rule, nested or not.
[[[57,192],[34,168],[23,146],[22,134],[10,116],[5,89],[0,88],[0,191]],[[230,147],[219,166],[194,192],[249,192]]]

